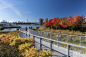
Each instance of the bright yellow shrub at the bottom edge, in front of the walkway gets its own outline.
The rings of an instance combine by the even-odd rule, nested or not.
[[[38,50],[39,50],[39,48],[31,47],[31,48],[29,48],[29,50],[26,49],[25,52],[22,53],[22,55],[24,57],[49,57],[49,56],[53,55],[50,50],[46,51],[43,49],[40,52],[38,52]]]

